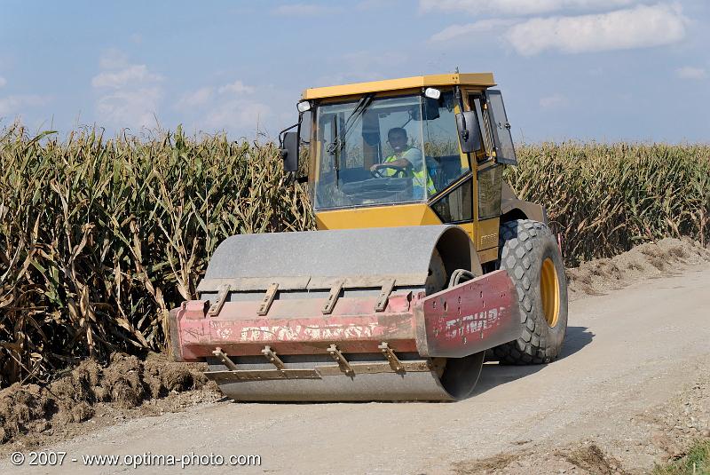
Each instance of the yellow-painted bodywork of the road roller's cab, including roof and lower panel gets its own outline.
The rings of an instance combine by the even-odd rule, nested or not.
[[[463,110],[471,110],[473,101],[469,97],[478,97],[483,91],[495,86],[492,73],[454,73],[445,75],[421,75],[384,81],[374,81],[367,83],[352,83],[337,86],[307,89],[302,98],[321,104],[340,103],[343,101],[353,101],[366,95],[375,98],[398,97],[406,94],[421,94],[426,88],[452,88],[456,87],[461,93],[461,103]],[[485,104],[482,107],[486,107]],[[461,107],[456,106],[455,112],[461,112]],[[319,162],[323,159],[320,150],[322,149],[322,133],[318,130],[316,117],[312,116],[311,140],[314,146],[310,147],[309,162],[309,182],[313,183],[318,178]],[[544,210],[541,206],[517,200],[509,186],[501,182],[497,189],[486,189],[485,193],[479,190],[478,173],[489,167],[496,165],[496,151],[493,137],[490,131],[486,131],[487,137],[483,138],[484,146],[476,154],[465,154],[459,146],[458,153],[461,163],[469,167],[469,177],[472,182],[472,194],[470,203],[473,211],[472,216],[465,222],[456,222],[457,226],[464,229],[475,243],[479,254],[479,260],[485,262],[494,261],[498,257],[498,230],[500,226],[500,215],[506,212],[517,212],[527,218],[545,221]],[[489,160],[481,160],[485,158]],[[368,163],[372,164],[372,163]],[[436,194],[430,196],[427,202],[422,203],[393,203],[383,206],[363,206],[338,210],[315,210],[316,223],[319,230],[326,229],[351,229],[369,227],[391,227],[391,226],[427,226],[446,224],[446,220],[438,217],[432,210],[431,205],[438,202],[446,194],[461,185],[461,180],[454,180],[446,188],[438,190]],[[501,212],[498,216],[479,216],[479,202],[481,200],[500,200]]]

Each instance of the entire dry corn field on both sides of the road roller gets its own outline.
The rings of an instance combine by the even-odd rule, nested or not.
[[[710,237],[710,146],[519,146],[507,170],[544,203],[568,265],[640,241]],[[170,308],[195,297],[232,234],[313,227],[306,189],[272,144],[97,131],[0,132],[0,387],[86,356],[162,350]]]

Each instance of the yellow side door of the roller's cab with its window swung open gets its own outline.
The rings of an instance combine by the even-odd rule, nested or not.
[[[471,154],[474,180],[473,233],[481,263],[498,258],[501,188],[505,165],[517,164],[501,91],[467,91],[466,107],[475,111],[484,146]]]

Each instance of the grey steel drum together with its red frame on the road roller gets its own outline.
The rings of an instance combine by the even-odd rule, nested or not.
[[[306,243],[295,265],[260,260]],[[408,257],[403,247],[420,250]],[[233,236],[215,252],[202,298],[170,312],[174,358],[207,360],[206,375],[237,400],[457,399],[433,359],[473,359],[464,375],[477,379],[485,350],[517,338],[517,293],[496,271],[427,296],[435,248],[457,250],[446,262],[480,273],[457,226]],[[363,259],[368,249],[389,258]]]

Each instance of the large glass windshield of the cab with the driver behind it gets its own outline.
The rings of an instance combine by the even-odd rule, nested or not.
[[[453,96],[319,106],[315,208],[422,202],[468,171]]]

